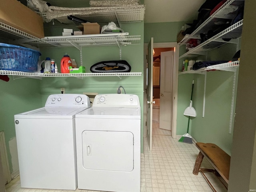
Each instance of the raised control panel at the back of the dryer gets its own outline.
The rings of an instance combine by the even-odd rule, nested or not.
[[[140,100],[134,94],[101,94],[96,95],[94,107],[140,107]]]

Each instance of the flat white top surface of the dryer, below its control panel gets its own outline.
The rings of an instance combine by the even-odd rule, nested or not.
[[[140,119],[140,107],[91,107],[76,118]]]

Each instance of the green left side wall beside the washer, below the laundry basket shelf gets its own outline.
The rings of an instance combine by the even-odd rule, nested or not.
[[[21,78],[5,82],[0,80],[0,131],[4,131],[6,140],[6,149],[12,169],[12,157],[10,154],[9,142],[16,137],[14,115],[42,107],[40,94],[40,80],[31,78]],[[15,147],[15,146],[14,146]]]

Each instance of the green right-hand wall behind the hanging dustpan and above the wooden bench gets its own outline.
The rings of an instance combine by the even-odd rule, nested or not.
[[[236,44],[226,44],[210,51],[204,60],[231,60]],[[183,61],[185,58],[182,58]],[[195,58],[194,60],[196,60]],[[181,64],[182,62],[180,62]],[[181,66],[180,66],[181,68]],[[204,74],[180,74],[178,79],[177,135],[187,132],[188,117],[183,115],[189,106],[194,79],[193,107],[197,116],[191,117],[189,134],[197,142],[212,142],[231,154],[233,132],[229,133],[234,72],[206,72],[206,100],[203,112]]]

